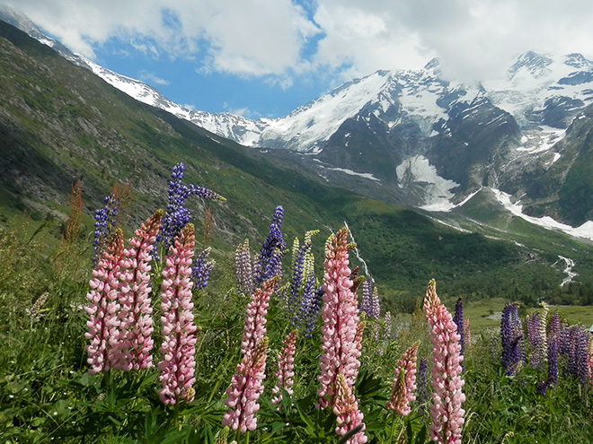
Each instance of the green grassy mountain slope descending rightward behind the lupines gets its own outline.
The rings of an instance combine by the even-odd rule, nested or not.
[[[249,238],[257,251],[269,230],[274,207],[283,205],[282,230],[288,242],[297,236],[302,239],[312,229],[326,235],[347,222],[358,244],[357,255],[365,261],[352,255],[352,264],[361,266],[361,273],[373,274],[387,308],[413,309],[432,277],[438,279],[443,297],[496,295],[529,303],[535,297],[558,303],[593,301],[593,277],[589,278],[593,276],[593,247],[588,244],[560,232],[535,230],[527,222],[521,225],[512,216],[511,222],[500,222],[496,229],[478,219],[490,212],[492,222],[495,216],[509,214],[502,208],[483,210],[473,220],[465,216],[437,222],[332,187],[269,153],[236,144],[132,99],[88,67],[73,65],[4,22],[0,22],[0,89],[2,225],[27,213],[33,224],[50,227],[59,238],[72,184],[79,180],[90,233],[91,215],[102,206],[103,196],[113,184],[129,184],[133,198],[125,212],[128,220],[123,222],[130,232],[155,208],[166,205],[171,168],[183,161],[184,180],[227,199],[219,203],[189,198],[187,203],[194,213],[199,247],[204,246],[200,238],[206,208],[213,213],[212,256],[219,264],[213,279],[223,283],[214,287],[220,291],[234,285],[231,270],[236,245]],[[486,197],[479,193],[467,205],[497,205]],[[483,234],[471,232],[479,231],[480,223]],[[325,235],[314,239],[317,266]],[[578,282],[561,287],[567,276],[559,257],[576,264],[572,272],[579,274]]]

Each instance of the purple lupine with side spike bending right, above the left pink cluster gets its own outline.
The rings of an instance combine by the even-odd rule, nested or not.
[[[181,183],[184,171],[185,165],[178,163],[173,167],[171,179],[169,180],[169,203],[167,204],[167,209],[161,222],[161,230],[156,237],[157,243],[160,241],[163,242],[165,251],[173,245],[173,239],[179,235],[183,227],[191,220],[191,212],[184,206],[185,200],[189,196],[199,196],[202,199],[209,200],[226,200],[223,196],[218,195],[208,188]]]

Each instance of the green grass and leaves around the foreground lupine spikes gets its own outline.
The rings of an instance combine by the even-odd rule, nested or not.
[[[92,241],[64,234],[56,243],[51,240],[54,229],[48,224],[0,231],[3,442],[338,441],[336,415],[331,409],[315,408],[323,350],[319,322],[310,337],[294,339],[294,384],[289,389],[272,388],[271,369],[276,368],[275,358],[282,355],[281,350],[286,356],[283,347],[294,323],[294,314],[286,309],[290,304],[279,292],[271,295],[266,313],[269,370],[259,399],[257,428],[229,433],[222,427],[228,411],[226,388],[241,361],[243,320],[250,300],[230,277],[192,290],[191,312],[199,328],[193,400],[165,405],[157,391],[159,371],[155,367],[90,374],[84,295],[93,269],[93,251],[88,248]],[[70,227],[69,231],[75,230]],[[164,256],[164,251],[160,253]],[[292,273],[294,266],[285,266],[285,270]],[[158,289],[164,263],[155,262],[154,267],[152,285]],[[285,282],[289,280],[285,277]],[[152,302],[155,330],[162,327],[158,322],[162,307],[157,300],[154,297]],[[390,394],[398,380],[394,369],[403,365],[398,364],[403,353],[420,340],[416,345],[419,359],[430,355],[429,326],[423,313],[417,309],[405,325],[392,325],[385,316],[372,316],[366,322],[353,393],[364,414],[368,442],[429,442],[429,396],[420,387],[407,416],[393,414],[386,407],[396,399]],[[156,343],[161,341],[155,338]],[[542,370],[526,365],[513,375],[505,371],[498,332],[474,332],[474,343],[468,343],[461,373],[465,381],[461,384],[465,391],[464,442],[589,440],[593,431],[589,381],[561,378],[542,396],[537,392]],[[155,358],[160,357],[155,353]],[[425,390],[426,382],[422,382]]]

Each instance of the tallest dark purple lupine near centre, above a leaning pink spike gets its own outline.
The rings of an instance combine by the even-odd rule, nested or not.
[[[284,254],[283,250],[286,248],[282,231],[280,231],[283,216],[284,208],[277,206],[272,216],[272,222],[270,223],[270,233],[261,246],[260,256],[255,266],[254,281],[256,286],[261,285],[261,283],[274,276],[281,276],[282,274],[281,260]]]

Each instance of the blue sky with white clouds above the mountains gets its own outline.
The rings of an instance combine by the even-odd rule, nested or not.
[[[0,0],[191,109],[276,118],[378,69],[463,81],[527,50],[593,59],[590,0]]]

